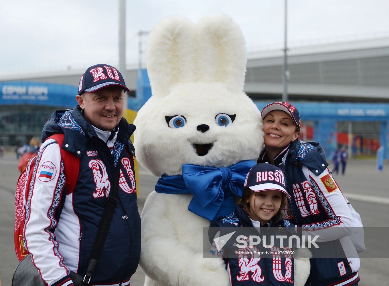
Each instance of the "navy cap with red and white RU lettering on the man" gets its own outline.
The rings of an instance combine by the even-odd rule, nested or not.
[[[89,66],[80,78],[78,94],[95,92],[108,85],[119,85],[123,87],[124,91],[130,92],[124,83],[123,76],[113,66],[104,64]]]

